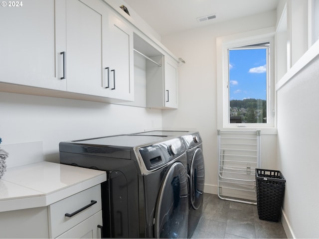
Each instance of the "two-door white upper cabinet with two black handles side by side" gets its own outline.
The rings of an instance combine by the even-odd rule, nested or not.
[[[65,11],[67,91],[134,100],[133,30],[98,0],[67,0]]]

